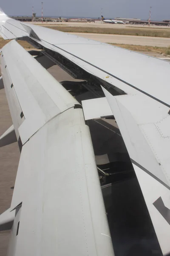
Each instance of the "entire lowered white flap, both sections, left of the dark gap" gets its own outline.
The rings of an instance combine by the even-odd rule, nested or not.
[[[8,255],[113,255],[81,105],[16,41],[3,47],[0,61],[23,144]]]

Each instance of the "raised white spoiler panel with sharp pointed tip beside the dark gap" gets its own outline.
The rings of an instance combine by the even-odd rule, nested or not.
[[[148,137],[150,134],[143,134],[143,126],[140,127],[139,122],[136,122],[135,114],[138,113],[137,106],[139,105],[140,108],[139,98],[137,97],[136,108],[134,108],[134,105],[131,105],[130,99],[127,99],[129,97],[128,95],[112,96],[104,88],[103,91],[108,99],[109,105],[111,106],[130,158],[147,169],[151,174],[158,177],[163,183],[170,186],[169,180],[167,180],[161,170],[159,160],[156,158],[153,147],[150,147]],[[128,102],[128,105],[126,105],[125,102]],[[129,110],[129,105],[131,108],[133,107],[133,110]],[[146,116],[147,114],[148,113],[145,113]],[[152,124],[152,131],[154,131],[154,129],[155,125]]]

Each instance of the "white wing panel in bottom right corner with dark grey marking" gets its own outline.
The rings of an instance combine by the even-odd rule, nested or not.
[[[163,255],[170,253],[170,190],[133,164]],[[156,202],[161,198],[161,209]],[[155,205],[155,206],[154,206]],[[164,218],[165,217],[165,218]],[[168,223],[169,222],[169,223]]]

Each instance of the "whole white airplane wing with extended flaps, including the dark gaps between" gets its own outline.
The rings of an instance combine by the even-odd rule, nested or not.
[[[8,256],[168,255],[170,63],[3,12],[0,35],[14,39],[0,53],[13,121],[0,146],[21,150],[0,215]],[[60,84],[54,64],[81,84]]]

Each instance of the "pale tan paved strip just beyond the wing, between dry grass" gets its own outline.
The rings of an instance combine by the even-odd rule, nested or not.
[[[108,35],[108,34],[91,34],[91,33],[70,33],[72,35],[82,36],[91,40],[102,43],[113,44],[133,44],[142,46],[156,46],[169,47],[170,38],[158,38],[150,36],[136,36],[136,35]]]

